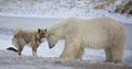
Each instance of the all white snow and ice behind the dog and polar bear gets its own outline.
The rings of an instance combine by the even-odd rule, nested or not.
[[[0,0],[0,50],[6,50],[8,47],[14,47],[11,39],[16,27],[23,27],[25,30],[37,30],[38,27],[48,28],[70,16],[82,19],[110,16],[123,22],[127,28],[128,44],[124,57],[125,64],[132,66],[132,16],[113,12],[114,5],[119,4],[121,0],[117,0],[116,4],[107,9],[94,9],[94,5],[102,3],[103,1],[105,0]],[[38,47],[37,54],[38,57],[58,57],[63,48],[64,41],[59,41],[53,49],[48,48],[47,42],[45,41]],[[10,54],[10,51],[8,53]],[[2,54],[2,51],[0,54]],[[13,57],[15,55],[10,54],[10,56]],[[32,56],[31,48],[25,47],[22,56]],[[82,57],[84,60],[96,62],[102,62],[105,58],[103,49],[88,48],[85,49],[85,55]],[[16,66],[16,64],[13,65]],[[29,67],[31,67],[31,65]]]

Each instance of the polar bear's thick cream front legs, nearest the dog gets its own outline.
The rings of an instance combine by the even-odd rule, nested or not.
[[[61,58],[79,58],[81,59],[84,55],[84,47],[80,46],[80,42],[79,43],[67,43],[65,45],[64,51],[61,55]]]

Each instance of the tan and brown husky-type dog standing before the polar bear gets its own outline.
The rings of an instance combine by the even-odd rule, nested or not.
[[[18,54],[21,56],[21,53],[25,45],[32,47],[33,56],[37,56],[36,51],[41,43],[43,43],[46,37],[46,28],[38,28],[35,32],[23,31],[22,28],[16,28],[14,36],[12,38],[12,44],[18,48]]]

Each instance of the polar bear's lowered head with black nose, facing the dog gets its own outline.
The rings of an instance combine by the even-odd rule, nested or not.
[[[46,39],[48,42],[48,47],[53,48],[55,44],[62,38],[63,34],[61,30],[48,30]]]

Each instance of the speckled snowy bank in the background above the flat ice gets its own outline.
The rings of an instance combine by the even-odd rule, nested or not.
[[[95,18],[110,16],[123,23],[131,23],[132,16],[128,14],[118,14],[113,11],[116,5],[122,0],[117,0],[116,4],[107,9],[95,10],[94,7],[103,3],[105,0],[1,0],[1,16],[21,16],[21,18]]]

